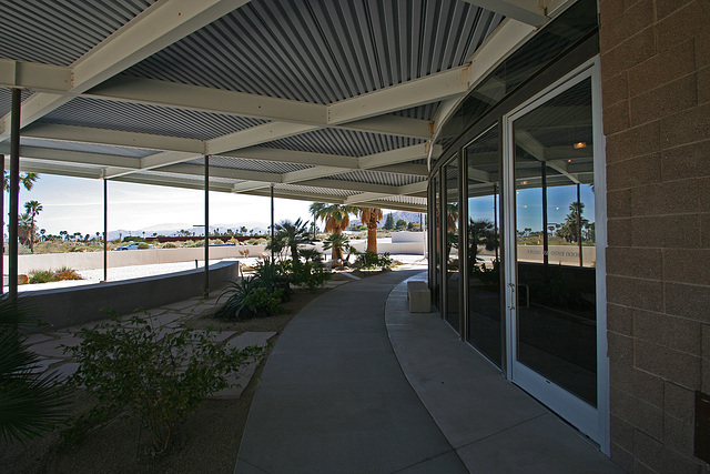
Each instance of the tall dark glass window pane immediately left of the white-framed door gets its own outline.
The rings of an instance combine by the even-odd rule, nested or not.
[[[503,309],[499,238],[499,133],[493,128],[466,148],[468,193],[468,334],[467,340],[501,365]]]

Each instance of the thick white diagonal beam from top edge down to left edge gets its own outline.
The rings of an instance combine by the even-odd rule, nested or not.
[[[154,3],[71,64],[69,92],[81,93],[212,23],[246,0],[163,0]],[[22,103],[21,127],[61,107],[71,95],[37,93]],[[0,140],[10,134],[10,115],[3,119]]]

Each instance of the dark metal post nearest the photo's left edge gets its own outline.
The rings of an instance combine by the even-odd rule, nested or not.
[[[10,299],[18,296],[18,213],[20,201],[20,89],[12,89],[10,119],[10,226],[9,249]]]

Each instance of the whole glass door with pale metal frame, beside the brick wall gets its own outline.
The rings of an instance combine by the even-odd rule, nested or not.
[[[507,120],[506,303],[510,379],[599,441],[592,103],[588,72]]]

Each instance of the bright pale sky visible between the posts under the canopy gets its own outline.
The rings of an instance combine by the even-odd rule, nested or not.
[[[166,228],[193,229],[204,224],[204,192],[180,188],[156,186],[109,181],[109,231],[142,230],[159,224]],[[40,174],[31,191],[20,188],[20,212],[27,201],[39,201],[42,212],[37,229],[49,234],[68,231],[70,234],[95,235],[103,232],[103,181]],[[266,228],[271,222],[268,198],[224,192],[210,193],[210,225],[240,224]],[[274,216],[295,221],[311,220],[308,201],[275,199]],[[8,215],[8,194],[4,215]],[[7,232],[7,229],[6,229]]]

